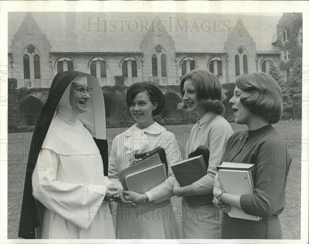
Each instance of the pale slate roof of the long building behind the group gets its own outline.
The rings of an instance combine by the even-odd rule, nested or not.
[[[13,35],[18,31],[26,15],[27,12],[8,13],[9,52],[11,52]],[[226,53],[226,32],[215,32],[214,21],[219,24],[219,28],[226,29],[223,22],[227,26],[232,26],[238,17],[256,42],[257,51],[273,51],[275,48],[271,44],[272,37],[281,18],[280,16],[175,12],[31,12],[31,15],[49,40],[51,53],[142,53],[141,41],[146,35],[146,28],[142,28],[141,23],[148,21],[151,24],[151,21],[156,21],[156,24],[159,19],[166,21],[164,26],[175,41],[176,53]],[[91,31],[88,31],[88,17],[91,23],[95,23],[96,17],[100,17],[100,31],[96,31],[96,25],[91,25]],[[110,27],[114,30],[115,28],[109,24],[109,21],[112,21],[111,24],[116,25],[116,31],[104,31],[103,20],[106,21],[106,29]],[[124,24],[121,30],[121,22],[119,22],[121,20],[131,21],[133,31],[128,30],[127,24]],[[177,23],[182,26],[186,20],[188,30],[181,31]],[[136,31],[134,31],[136,26],[134,21],[138,23]],[[212,26],[209,32],[201,30],[202,22],[204,30],[207,30],[209,25]],[[150,24],[147,28],[150,28]],[[190,31],[191,28],[192,31]]]

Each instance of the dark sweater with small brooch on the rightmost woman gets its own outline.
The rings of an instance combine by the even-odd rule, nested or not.
[[[255,192],[240,197],[245,213],[268,219],[283,211],[291,163],[286,129],[276,131],[269,125],[254,131],[237,131],[229,138],[222,161],[256,165]]]

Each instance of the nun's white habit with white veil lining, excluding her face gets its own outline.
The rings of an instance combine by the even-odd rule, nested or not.
[[[93,139],[106,139],[102,90],[91,75],[81,73],[72,82],[94,87],[87,106],[91,112],[72,110],[70,83],[32,173],[32,195],[45,206],[41,238],[113,239],[111,212],[103,201],[111,181],[104,176],[102,157]]]

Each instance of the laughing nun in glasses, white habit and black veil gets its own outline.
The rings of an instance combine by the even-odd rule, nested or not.
[[[30,146],[18,236],[114,239],[108,201],[118,187],[104,176],[107,141],[98,80],[79,71],[58,73],[40,116]]]

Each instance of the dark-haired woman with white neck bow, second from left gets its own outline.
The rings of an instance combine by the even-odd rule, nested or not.
[[[171,166],[181,160],[175,135],[154,121],[165,108],[160,89],[149,82],[133,83],[127,90],[126,103],[136,124],[117,135],[112,142],[108,177],[119,186],[120,202],[116,210],[115,232],[117,239],[178,239],[179,231],[172,204],[138,215],[136,204],[163,202],[173,196],[174,175]],[[146,153],[157,147],[165,150],[167,179],[143,194],[123,190],[117,176],[129,167],[136,153]],[[147,181],[147,179],[145,179]]]

